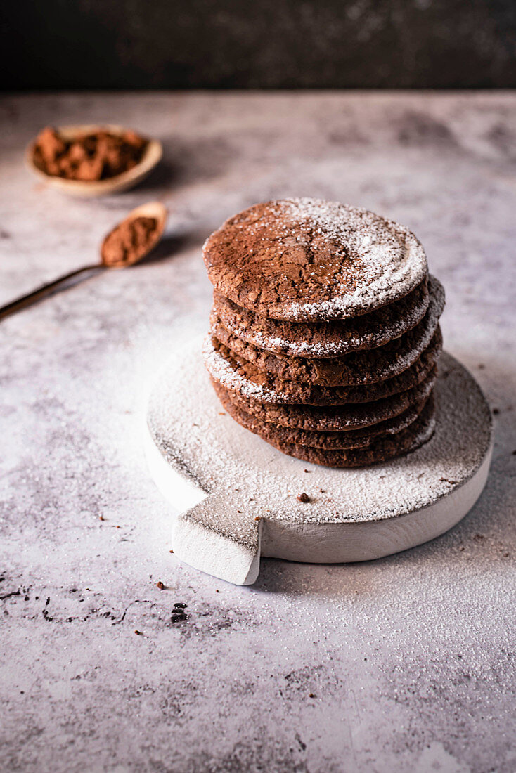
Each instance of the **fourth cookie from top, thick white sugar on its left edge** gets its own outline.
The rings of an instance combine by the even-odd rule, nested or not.
[[[234,355],[227,346],[214,338],[205,340],[203,356],[210,376],[241,397],[251,397],[261,403],[342,405],[369,403],[404,392],[421,383],[436,365],[442,342],[443,337],[438,329],[429,346],[409,368],[390,379],[359,386],[317,386],[281,379]]]

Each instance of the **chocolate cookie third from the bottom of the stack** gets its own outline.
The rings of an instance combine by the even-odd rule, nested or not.
[[[237,408],[258,417],[262,422],[268,421],[282,427],[294,427],[299,430],[320,432],[338,432],[343,430],[370,427],[395,416],[399,416],[409,407],[425,400],[432,391],[436,381],[437,370],[434,368],[425,380],[405,392],[383,397],[371,403],[346,404],[330,407],[313,405],[272,405],[259,403],[250,397],[240,397],[227,390],[214,379],[211,380],[217,394],[224,393]]]

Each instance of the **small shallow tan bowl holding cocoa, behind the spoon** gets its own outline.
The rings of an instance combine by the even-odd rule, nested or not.
[[[127,131],[123,126],[113,126],[111,124],[88,124],[85,126],[59,126],[57,131],[63,138],[73,140],[77,136],[94,134],[96,131],[109,131],[113,135],[122,135]],[[149,145],[145,148],[142,160],[132,169],[122,172],[121,175],[115,175],[105,180],[67,180],[63,177],[47,175],[43,169],[40,169],[34,161],[34,148],[36,140],[33,140],[26,149],[26,165],[39,179],[45,180],[48,185],[53,186],[63,193],[70,196],[109,196],[111,193],[128,190],[141,182],[152,169],[159,164],[163,147],[159,140],[149,139]]]

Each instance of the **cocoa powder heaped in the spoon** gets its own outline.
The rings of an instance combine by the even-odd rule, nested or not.
[[[101,247],[102,264],[109,268],[131,265],[149,252],[158,239],[155,217],[124,220],[105,237]]]

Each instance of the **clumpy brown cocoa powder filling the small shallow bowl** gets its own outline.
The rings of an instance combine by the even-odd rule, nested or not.
[[[32,158],[50,177],[94,182],[132,169],[148,145],[149,141],[135,131],[113,134],[99,129],[67,139],[57,129],[46,127],[36,138]]]

